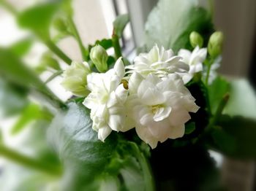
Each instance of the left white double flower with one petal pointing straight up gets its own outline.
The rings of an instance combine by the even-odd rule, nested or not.
[[[92,128],[98,131],[98,138],[102,141],[112,130],[126,131],[132,128],[124,108],[128,90],[121,84],[122,77],[124,77],[124,63],[121,58],[108,72],[92,73],[87,77],[87,87],[91,93],[83,104],[91,109]]]

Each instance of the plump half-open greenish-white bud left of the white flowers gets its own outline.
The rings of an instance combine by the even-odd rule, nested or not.
[[[74,95],[86,96],[89,90],[86,89],[87,75],[91,73],[88,63],[72,62],[71,65],[64,71],[64,79],[61,85]]]

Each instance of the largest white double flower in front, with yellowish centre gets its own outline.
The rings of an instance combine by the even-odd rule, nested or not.
[[[129,94],[129,117],[135,121],[140,139],[153,149],[158,141],[184,136],[189,112],[199,108],[177,74],[162,79],[149,74],[144,79],[135,72],[129,79]]]

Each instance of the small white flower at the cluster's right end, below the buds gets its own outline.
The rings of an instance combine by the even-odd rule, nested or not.
[[[193,52],[189,50],[181,49],[178,51],[178,55],[182,57],[182,61],[189,65],[189,72],[181,74],[181,77],[186,84],[192,79],[195,73],[203,71],[203,61],[206,60],[207,49],[195,47]]]

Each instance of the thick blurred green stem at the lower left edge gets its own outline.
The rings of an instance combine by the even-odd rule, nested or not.
[[[61,176],[61,168],[59,168],[59,166],[45,163],[45,161],[35,160],[3,145],[0,145],[0,155],[7,158],[8,160],[12,160],[12,162],[19,165],[33,168],[35,170],[42,171],[53,176]]]

